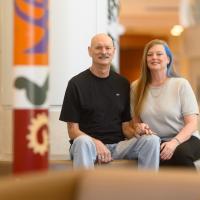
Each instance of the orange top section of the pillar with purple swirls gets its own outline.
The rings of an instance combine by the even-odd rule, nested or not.
[[[15,0],[14,66],[48,64],[48,0]]]

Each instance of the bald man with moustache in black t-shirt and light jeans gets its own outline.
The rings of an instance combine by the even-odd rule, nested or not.
[[[91,40],[89,69],[73,77],[65,93],[60,120],[67,122],[75,168],[113,159],[138,159],[138,167],[159,167],[159,138],[146,124],[130,126],[130,84],[110,70],[115,47],[106,34]],[[125,139],[126,138],[126,139]]]

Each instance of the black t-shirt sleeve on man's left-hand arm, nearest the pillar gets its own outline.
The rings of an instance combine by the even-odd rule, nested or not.
[[[60,113],[61,121],[65,122],[79,122],[80,119],[80,102],[78,98],[78,91],[73,83],[73,81],[69,81],[62,108]]]

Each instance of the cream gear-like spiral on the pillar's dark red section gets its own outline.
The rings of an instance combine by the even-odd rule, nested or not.
[[[48,117],[44,113],[36,115],[31,119],[31,124],[28,126],[29,133],[26,136],[28,140],[28,148],[32,149],[35,154],[43,156],[48,151],[48,131],[45,128],[42,130],[42,143],[38,141],[39,130],[43,126],[48,125]]]

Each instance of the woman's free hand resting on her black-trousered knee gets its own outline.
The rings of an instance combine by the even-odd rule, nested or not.
[[[169,160],[174,154],[176,147],[179,145],[175,139],[168,142],[163,142],[160,146],[160,158],[161,160]]]

